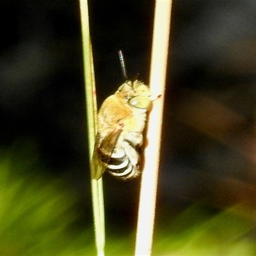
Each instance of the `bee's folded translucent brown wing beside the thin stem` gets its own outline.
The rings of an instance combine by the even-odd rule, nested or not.
[[[101,143],[99,141],[99,133],[97,134],[92,157],[92,179],[99,180],[108,168],[108,161],[111,158],[121,132],[122,129],[113,129]],[[102,152],[104,156],[99,156],[99,151]]]

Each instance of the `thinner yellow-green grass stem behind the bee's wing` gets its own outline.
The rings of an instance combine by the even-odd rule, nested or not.
[[[89,142],[89,156],[92,159],[97,132],[97,99],[93,70],[92,45],[90,42],[88,2],[80,0],[81,27],[83,38],[84,88],[86,97],[86,115]],[[104,255],[105,224],[102,179],[92,179],[92,204],[97,255]]]

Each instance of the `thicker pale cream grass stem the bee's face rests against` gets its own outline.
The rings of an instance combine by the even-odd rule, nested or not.
[[[154,102],[148,118],[148,146],[141,177],[135,255],[150,255],[152,251],[171,10],[172,0],[156,1],[150,88],[154,95],[161,97]]]

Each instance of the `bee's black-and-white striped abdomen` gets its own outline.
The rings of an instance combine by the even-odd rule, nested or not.
[[[138,175],[138,152],[135,146],[124,141],[123,147],[114,149],[111,157],[106,156],[102,150],[98,150],[100,161],[108,166],[106,169],[111,175],[121,179],[129,179]]]

